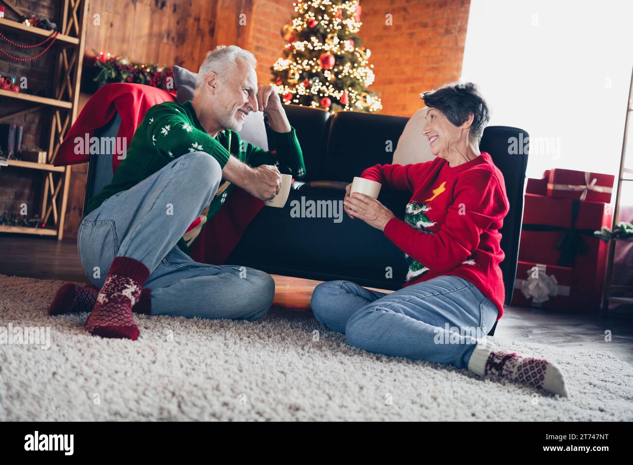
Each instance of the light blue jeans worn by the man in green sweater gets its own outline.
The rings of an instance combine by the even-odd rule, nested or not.
[[[263,316],[275,295],[270,275],[197,263],[176,245],[221,180],[215,158],[192,152],[91,211],[79,226],[77,246],[92,284],[103,286],[114,257],[130,257],[150,271],[143,287],[150,290],[153,315],[251,321]]]

